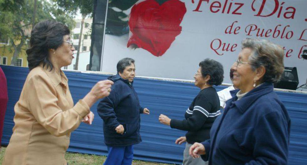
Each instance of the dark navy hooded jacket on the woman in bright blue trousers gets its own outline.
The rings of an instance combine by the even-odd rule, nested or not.
[[[97,106],[97,111],[103,120],[103,135],[107,146],[129,146],[142,141],[140,136],[140,106],[138,94],[133,83],[122,79],[118,74],[108,78],[112,80],[110,95],[103,98]],[[119,134],[115,128],[122,124],[124,133]]]

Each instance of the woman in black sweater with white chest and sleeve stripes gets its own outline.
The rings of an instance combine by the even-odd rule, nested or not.
[[[163,114],[159,116],[160,123],[188,131],[185,136],[175,141],[176,144],[187,142],[183,153],[183,165],[207,164],[201,158],[192,158],[189,155],[189,148],[195,142],[200,143],[210,138],[212,123],[221,114],[219,96],[212,86],[221,85],[223,74],[221,63],[209,58],[201,61],[194,75],[195,86],[200,88],[200,92],[186,110],[185,119],[170,119]]]

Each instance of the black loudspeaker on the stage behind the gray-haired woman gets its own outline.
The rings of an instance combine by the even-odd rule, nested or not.
[[[284,73],[278,83],[274,83],[274,88],[296,90],[299,85],[299,78],[297,76],[296,67],[285,67]]]

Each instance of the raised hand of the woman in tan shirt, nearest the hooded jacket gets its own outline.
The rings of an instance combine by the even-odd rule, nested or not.
[[[114,84],[111,80],[103,80],[97,82],[91,89],[91,94],[95,96],[96,99],[104,98],[109,96],[111,92],[111,86]]]

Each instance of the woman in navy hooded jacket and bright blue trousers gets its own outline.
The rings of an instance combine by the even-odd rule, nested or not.
[[[149,110],[140,106],[138,94],[133,88],[134,76],[134,60],[120,60],[117,75],[108,78],[114,82],[110,95],[97,106],[98,114],[103,119],[104,141],[108,147],[104,165],[131,164],[133,145],[142,141],[140,113],[149,114]]]

